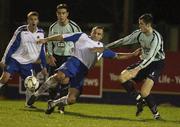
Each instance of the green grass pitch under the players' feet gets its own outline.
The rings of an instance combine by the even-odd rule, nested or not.
[[[38,110],[24,108],[24,101],[0,100],[0,127],[180,127],[180,108],[159,106],[163,120],[154,120],[148,108],[136,117],[135,106],[77,103],[46,115],[47,104]]]

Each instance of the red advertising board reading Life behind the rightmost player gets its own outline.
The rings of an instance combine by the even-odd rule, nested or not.
[[[128,65],[136,62],[132,60],[104,60],[103,67],[103,91],[123,91],[124,89],[114,78],[121,73]],[[160,94],[180,94],[180,53],[166,53],[165,68],[158,81],[155,83],[152,92]],[[140,87],[140,84],[137,85]]]

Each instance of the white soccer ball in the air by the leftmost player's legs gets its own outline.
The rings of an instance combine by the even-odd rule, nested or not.
[[[28,76],[24,81],[24,86],[30,91],[35,91],[39,87],[39,81],[35,76]]]

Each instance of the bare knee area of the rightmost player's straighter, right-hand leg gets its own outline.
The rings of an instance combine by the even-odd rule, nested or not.
[[[154,85],[154,81],[152,79],[146,78],[144,80],[142,87],[141,87],[141,94],[143,97],[146,97],[150,94],[153,85]]]

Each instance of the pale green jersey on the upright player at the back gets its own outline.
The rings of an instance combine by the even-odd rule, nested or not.
[[[80,27],[73,21],[69,20],[69,23],[65,26],[61,26],[58,21],[53,23],[49,27],[49,35],[55,34],[67,34],[67,33],[74,33],[74,32],[81,32]],[[72,50],[74,48],[73,42],[60,42],[60,41],[52,41],[47,44],[47,50],[49,55],[58,55],[58,56],[70,56]]]

